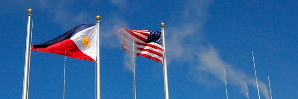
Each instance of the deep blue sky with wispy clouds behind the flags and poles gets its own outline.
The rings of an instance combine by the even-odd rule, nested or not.
[[[101,98],[132,99],[130,55],[114,33],[160,31],[165,22],[170,99],[298,97],[298,1],[295,0],[4,0],[0,1],[0,99],[22,97],[27,10],[32,43],[51,40],[101,15]],[[31,53],[29,99],[60,99],[64,56]],[[164,99],[162,64],[136,58],[138,99]],[[248,93],[248,94],[247,94]],[[66,58],[66,99],[95,98],[95,63]]]

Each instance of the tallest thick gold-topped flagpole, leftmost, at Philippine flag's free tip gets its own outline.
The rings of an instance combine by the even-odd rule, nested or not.
[[[23,96],[22,99],[28,99],[28,74],[30,65],[30,20],[32,9],[28,9],[28,22],[27,22],[27,37],[26,37],[26,52],[25,52],[25,66],[24,66],[24,81],[23,81]]]

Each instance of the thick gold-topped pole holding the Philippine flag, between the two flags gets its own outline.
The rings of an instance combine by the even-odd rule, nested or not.
[[[100,40],[99,40],[99,23],[100,23],[100,16],[96,16],[97,22],[96,22],[96,33],[97,33],[97,42],[96,42],[96,99],[100,99]]]

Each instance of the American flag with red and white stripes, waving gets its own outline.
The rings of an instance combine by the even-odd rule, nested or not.
[[[161,32],[121,28],[115,35],[118,33],[121,34],[124,51],[162,63],[164,48]]]

